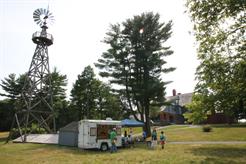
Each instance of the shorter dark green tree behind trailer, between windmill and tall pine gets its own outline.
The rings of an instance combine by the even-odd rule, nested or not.
[[[71,90],[71,108],[78,113],[77,120],[120,118],[120,101],[111,88],[95,78],[91,66],[78,75]]]

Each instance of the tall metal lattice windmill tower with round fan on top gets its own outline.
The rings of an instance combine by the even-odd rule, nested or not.
[[[46,32],[54,17],[48,9],[40,8],[34,11],[33,18],[42,30],[32,35],[37,46],[21,93],[22,107],[16,111],[12,123],[12,127],[17,124],[22,142],[31,133],[28,129],[33,123],[49,133],[56,131],[48,56],[53,36]]]

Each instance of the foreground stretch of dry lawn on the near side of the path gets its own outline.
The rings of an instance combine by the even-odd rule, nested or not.
[[[115,154],[41,144],[1,145],[0,163],[245,163],[246,145],[146,145]]]

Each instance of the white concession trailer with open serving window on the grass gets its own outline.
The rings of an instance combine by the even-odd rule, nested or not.
[[[111,147],[109,134],[116,128],[116,146],[122,146],[121,121],[113,120],[81,120],[79,122],[78,147],[83,149],[101,149],[106,151]]]

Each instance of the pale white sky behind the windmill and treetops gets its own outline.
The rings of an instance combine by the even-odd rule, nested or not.
[[[167,66],[176,67],[162,77],[163,81],[173,81],[167,85],[167,96],[173,89],[177,93],[192,92],[198,60],[184,4],[185,0],[0,0],[0,80],[28,71],[36,48],[31,37],[41,30],[32,18],[38,8],[49,6],[55,17],[47,30],[54,37],[54,44],[49,46],[50,71],[56,67],[67,75],[68,97],[77,76],[86,66],[94,66],[107,50],[102,40],[110,24],[152,11],[160,14],[160,22],[173,21],[172,36],[164,44],[174,51],[165,59]]]

